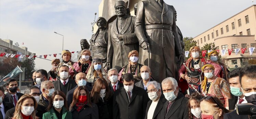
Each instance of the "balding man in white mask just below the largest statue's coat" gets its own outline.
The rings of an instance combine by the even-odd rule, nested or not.
[[[147,91],[148,82],[154,81],[150,77],[151,76],[150,68],[148,66],[142,66],[140,68],[140,75],[141,75],[142,80],[140,80],[139,82],[135,83],[135,85],[137,87],[140,87],[140,88],[142,88],[142,89]]]

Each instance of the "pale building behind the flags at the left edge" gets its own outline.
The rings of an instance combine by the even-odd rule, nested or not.
[[[27,47],[19,47],[17,43],[13,43],[10,39],[0,39],[0,53],[9,53],[9,54],[19,54],[19,55],[32,55],[31,52],[28,51]],[[10,57],[10,56],[9,56]],[[3,62],[7,57],[0,57],[0,62]],[[23,62],[24,58],[18,58],[18,61]]]

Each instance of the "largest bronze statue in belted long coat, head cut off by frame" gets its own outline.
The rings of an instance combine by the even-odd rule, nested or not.
[[[152,75],[157,77],[158,82],[162,82],[166,77],[177,79],[175,57],[178,57],[177,64],[180,64],[183,60],[183,50],[174,8],[163,0],[139,1],[135,32],[141,47],[139,63],[148,65],[150,61],[150,68],[154,70]]]

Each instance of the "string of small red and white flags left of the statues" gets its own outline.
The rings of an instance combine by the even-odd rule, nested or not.
[[[76,51],[76,53],[78,53],[79,51]],[[75,52],[71,52],[71,53],[75,53]],[[61,55],[61,53],[57,53],[57,54],[59,54],[59,55]],[[9,56],[11,56],[12,58],[13,57],[15,57],[15,58],[24,58],[24,57],[27,57],[28,59],[31,59],[31,58],[33,58],[33,57],[39,57],[39,58],[47,58],[47,56],[54,56],[54,57],[56,57],[57,56],[57,54],[49,54],[49,55],[36,55],[36,56],[31,56],[31,55],[19,55],[19,54],[9,54],[9,53],[0,53],[0,57],[9,57]]]

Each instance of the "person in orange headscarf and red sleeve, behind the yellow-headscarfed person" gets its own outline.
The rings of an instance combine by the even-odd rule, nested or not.
[[[208,53],[208,58],[210,58],[209,60],[212,61],[212,62],[215,62],[215,63],[217,63],[218,65],[221,66],[221,71],[220,71],[220,74],[219,74],[218,77],[227,80],[227,76],[228,76],[229,70],[227,68],[227,65],[225,65],[225,64],[223,64],[223,63],[218,61],[218,57],[219,57],[219,52],[216,51],[216,50]]]

